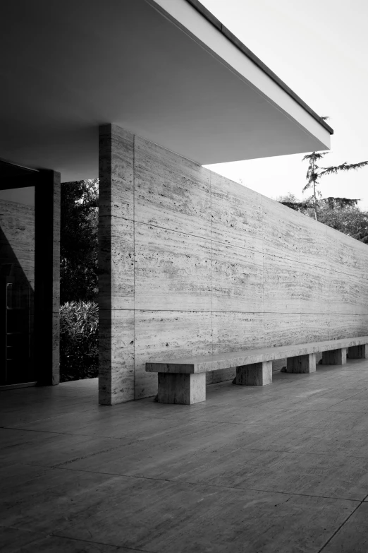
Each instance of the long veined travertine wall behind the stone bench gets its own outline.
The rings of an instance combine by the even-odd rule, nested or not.
[[[154,395],[163,355],[368,333],[368,246],[117,126],[99,232],[101,403]]]

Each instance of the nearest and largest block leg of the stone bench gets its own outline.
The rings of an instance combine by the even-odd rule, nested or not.
[[[206,400],[206,373],[174,374],[159,372],[158,403],[192,405]]]

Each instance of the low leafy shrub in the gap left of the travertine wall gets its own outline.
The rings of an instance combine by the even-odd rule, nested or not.
[[[94,302],[60,307],[60,380],[98,376],[99,309]]]

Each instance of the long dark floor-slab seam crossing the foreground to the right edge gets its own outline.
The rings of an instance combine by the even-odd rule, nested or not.
[[[61,468],[63,467],[53,467]],[[250,488],[250,487],[238,487],[238,486],[223,486],[221,484],[211,484],[208,482],[190,482],[189,480],[171,480],[170,478],[154,478],[152,476],[135,476],[135,475],[126,475],[117,472],[97,472],[96,470],[87,470],[83,468],[65,468],[64,470],[74,470],[75,472],[90,472],[97,475],[108,475],[108,476],[121,476],[124,478],[135,478],[136,480],[154,480],[157,482],[171,482],[171,484],[190,484],[190,486],[206,486],[219,489],[233,489],[236,492],[262,492],[266,494],[283,494],[283,495],[293,495],[300,497],[316,497],[317,499],[333,499],[336,501],[357,501],[359,504],[362,504],[364,499],[367,496],[364,496],[364,499],[350,499],[349,497],[335,497],[335,496],[325,496],[325,495],[313,495],[313,494],[297,494],[295,492],[280,492],[274,489],[259,489],[259,488]],[[121,546],[122,547],[122,546]]]

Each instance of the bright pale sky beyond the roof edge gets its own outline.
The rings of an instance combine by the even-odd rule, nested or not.
[[[330,117],[334,133],[324,166],[368,160],[367,0],[201,1],[314,112]],[[289,192],[306,198],[302,157],[207,167],[269,198]],[[368,167],[322,177],[322,197],[360,198],[368,210],[367,184]]]

